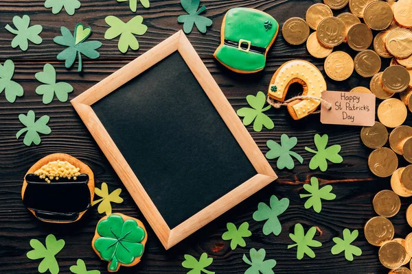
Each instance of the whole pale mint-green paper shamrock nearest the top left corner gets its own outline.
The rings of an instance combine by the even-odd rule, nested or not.
[[[23,15],[23,17],[14,16],[13,24],[16,29],[13,29],[10,25],[5,25],[7,29],[12,34],[15,34],[16,37],[12,40],[12,48],[20,47],[22,51],[27,51],[29,48],[29,42],[39,45],[43,41],[38,34],[41,33],[43,27],[41,25],[30,25],[30,17],[28,15]]]

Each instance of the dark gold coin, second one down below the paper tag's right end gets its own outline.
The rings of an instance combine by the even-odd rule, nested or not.
[[[387,147],[375,149],[367,160],[369,169],[378,177],[389,177],[398,169],[398,157]]]

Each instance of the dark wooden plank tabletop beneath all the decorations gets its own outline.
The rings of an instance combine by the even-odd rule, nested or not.
[[[177,23],[177,16],[185,12],[177,0],[151,0],[151,8],[144,9],[138,5],[136,14],[144,16],[144,23],[148,25],[148,32],[139,36],[140,49],[128,51],[122,54],[117,50],[117,40],[104,40],[104,32],[108,28],[104,18],[108,15],[119,16],[128,21],[135,16],[130,12],[128,3],[117,3],[115,0],[82,0],[82,7],[76,10],[74,16],[65,12],[52,14],[51,10],[44,8],[43,0],[3,0],[0,1],[0,61],[12,59],[16,65],[14,79],[19,82],[25,95],[16,100],[16,103],[5,101],[4,94],[0,95],[0,273],[38,273],[37,267],[40,261],[27,259],[26,253],[31,249],[30,239],[38,238],[42,242],[47,234],[54,234],[57,238],[65,240],[65,248],[58,253],[57,259],[60,265],[60,273],[70,273],[69,266],[76,264],[78,258],[82,258],[89,269],[98,269],[106,273],[107,263],[99,260],[91,249],[91,238],[97,221],[102,217],[97,208],[93,207],[77,223],[69,225],[47,224],[38,221],[28,212],[21,201],[21,185],[23,175],[27,169],[38,159],[49,153],[69,153],[91,166],[95,173],[97,186],[106,182],[112,191],[122,188],[121,196],[124,203],[113,204],[116,212],[122,212],[143,220],[141,212],[128,195],[128,192],[111,168],[110,164],[100,151],[98,145],[80,121],[78,115],[69,102],[60,103],[56,99],[49,105],[43,105],[41,96],[36,95],[35,89],[39,83],[34,74],[42,71],[45,63],[51,63],[56,68],[58,79],[69,82],[74,92],[69,95],[73,99],[87,90],[107,75],[121,68],[130,60],[141,55],[148,49],[182,28]],[[196,51],[205,62],[209,71],[218,82],[220,88],[229,99],[233,108],[247,105],[245,96],[255,94],[258,90],[266,92],[268,82],[276,69],[288,60],[304,59],[316,64],[323,71],[323,60],[312,58],[305,45],[292,47],[282,38],[282,33],[275,41],[268,53],[266,69],[262,73],[253,75],[238,75],[222,67],[212,53],[218,47],[220,39],[220,25],[225,12],[229,8],[244,6],[256,8],[268,12],[281,23],[292,16],[305,16],[307,8],[320,1],[310,0],[203,0],[207,5],[206,16],[213,20],[213,25],[207,30],[207,34],[200,34],[197,29],[188,37]],[[335,12],[339,14],[339,12]],[[12,49],[11,40],[14,37],[5,30],[5,25],[12,22],[14,15],[29,14],[33,24],[43,25],[41,45],[30,44],[28,51]],[[56,55],[62,51],[53,42],[55,36],[60,35],[60,26],[73,30],[76,23],[82,22],[93,29],[91,40],[100,40],[103,43],[99,50],[101,57],[97,60],[83,58],[83,72],[74,69],[65,69],[63,62],[56,60]],[[354,56],[346,45],[339,49],[348,51]],[[388,62],[384,62],[387,66]],[[382,66],[383,68],[384,66]],[[327,79],[330,90],[350,90],[355,86],[368,86],[369,78],[363,79],[356,73],[345,82],[333,82]],[[299,85],[294,85],[288,97],[301,92]],[[41,145],[26,147],[22,138],[16,140],[16,132],[21,129],[18,116],[34,110],[37,115],[50,116],[49,126],[52,134],[41,136]],[[297,153],[304,157],[304,164],[298,164],[293,171],[279,171],[276,169],[275,160],[271,161],[273,169],[279,175],[279,179],[270,186],[264,188],[256,195],[236,206],[220,218],[196,232],[172,249],[165,251],[152,229],[148,227],[148,244],[141,263],[132,268],[123,267],[119,273],[186,273],[181,262],[185,253],[198,258],[206,252],[214,258],[209,266],[210,271],[216,273],[244,273],[248,265],[242,262],[244,253],[249,253],[251,248],[266,249],[266,258],[275,259],[275,273],[387,273],[388,270],[380,265],[378,260],[378,248],[367,243],[363,234],[363,226],[375,212],[371,201],[379,190],[389,189],[389,178],[379,179],[372,175],[367,166],[367,157],[370,150],[367,149],[359,138],[361,127],[344,127],[321,125],[319,116],[312,115],[302,121],[293,121],[285,109],[269,110],[268,115],[273,119],[275,128],[271,131],[253,132],[248,127],[251,135],[258,143],[262,152],[266,153],[266,140],[279,141],[282,134],[297,136]],[[407,125],[411,125],[409,115]],[[305,146],[314,147],[314,134],[329,134],[330,144],[342,146],[342,164],[330,165],[325,173],[319,170],[310,171],[308,168],[312,154],[305,151]],[[403,160],[400,164],[406,165]],[[321,184],[331,184],[336,193],[334,201],[325,201],[323,210],[317,214],[313,210],[304,208],[304,200],[299,198],[302,186],[309,182],[310,177],[321,179]],[[290,207],[280,216],[282,234],[279,236],[264,236],[262,233],[263,222],[253,221],[252,214],[257,210],[258,203],[268,203],[271,195],[288,197]],[[396,227],[396,237],[404,238],[411,227],[407,225],[405,210],[412,199],[401,199],[400,212],[391,218]],[[232,251],[228,241],[221,238],[226,231],[226,223],[233,222],[236,225],[248,221],[252,236],[247,238],[247,247],[238,247]],[[318,232],[316,239],[323,244],[314,249],[317,257],[303,260],[296,259],[296,249],[287,249],[292,241],[288,237],[293,232],[296,223],[302,223],[305,229],[316,226]],[[147,224],[147,223],[146,223]],[[347,262],[341,253],[332,256],[330,249],[334,245],[332,238],[341,236],[344,228],[358,229],[360,236],[356,245],[361,247],[363,254],[356,257],[353,262]]]

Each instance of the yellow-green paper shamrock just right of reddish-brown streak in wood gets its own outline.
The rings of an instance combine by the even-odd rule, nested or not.
[[[323,186],[319,189],[319,180],[317,177],[310,178],[310,184],[304,184],[304,188],[310,194],[301,194],[301,198],[310,197],[305,203],[305,208],[312,208],[317,213],[322,210],[322,201],[321,199],[331,201],[336,198],[336,195],[331,193],[332,186]]]

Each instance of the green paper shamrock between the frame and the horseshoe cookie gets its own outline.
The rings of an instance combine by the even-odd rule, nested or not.
[[[271,108],[271,105],[263,108],[264,103],[266,103],[266,96],[262,91],[258,92],[256,96],[247,95],[246,101],[252,108],[241,108],[236,112],[238,116],[244,117],[243,125],[250,125],[255,121],[255,123],[253,123],[253,130],[255,132],[260,132],[263,126],[267,129],[273,129],[273,127],[275,127],[273,121],[263,113]]]

